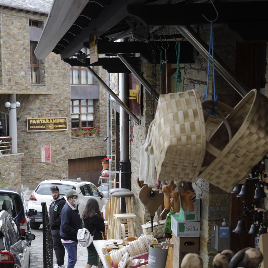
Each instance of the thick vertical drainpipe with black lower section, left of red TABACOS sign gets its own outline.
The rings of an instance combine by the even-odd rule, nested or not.
[[[122,90],[120,90],[121,100],[128,106],[129,76],[122,73]],[[131,167],[129,161],[129,115],[120,108],[120,178],[121,187],[131,189]],[[121,198],[121,211],[126,213],[125,198]]]

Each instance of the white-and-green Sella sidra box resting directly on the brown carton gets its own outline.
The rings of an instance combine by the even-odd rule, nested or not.
[[[177,220],[178,215],[171,215],[171,230],[177,237],[199,237],[200,222],[187,221],[180,222]]]

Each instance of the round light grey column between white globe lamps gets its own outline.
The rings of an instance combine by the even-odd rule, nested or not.
[[[9,136],[12,137],[11,153],[18,153],[16,94],[9,95]]]

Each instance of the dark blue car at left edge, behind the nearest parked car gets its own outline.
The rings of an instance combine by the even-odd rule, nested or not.
[[[0,186],[0,211],[6,210],[16,221],[22,234],[30,232],[27,205],[20,189]]]

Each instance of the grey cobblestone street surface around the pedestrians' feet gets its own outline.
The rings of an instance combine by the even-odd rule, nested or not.
[[[31,260],[30,260],[30,268],[41,268],[43,266],[43,229],[42,224],[38,230],[31,230],[33,234],[35,234],[36,238],[32,241],[31,244]],[[87,263],[87,249],[80,247],[78,245],[77,248],[77,256],[78,260],[75,268],[84,268]],[[68,254],[65,251],[65,261],[64,265],[67,268],[67,260]],[[56,264],[56,256],[53,250],[53,267]],[[92,266],[92,268],[96,268],[96,266]]]

